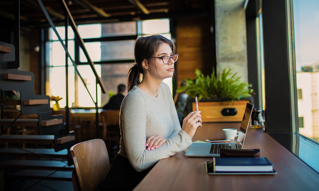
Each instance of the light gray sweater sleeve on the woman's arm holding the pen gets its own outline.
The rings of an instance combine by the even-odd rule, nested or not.
[[[170,136],[171,138],[163,145],[148,151],[145,146],[147,108],[144,97],[138,93],[127,95],[124,98],[120,120],[126,154],[130,164],[137,172],[155,165],[160,159],[185,150],[192,144],[188,134],[179,126],[179,130],[178,127],[174,127],[175,135]]]

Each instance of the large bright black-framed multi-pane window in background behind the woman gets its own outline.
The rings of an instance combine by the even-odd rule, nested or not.
[[[65,28],[56,27],[61,39],[65,40]],[[134,60],[135,39],[140,36],[161,34],[171,38],[169,19],[154,19],[143,21],[130,21],[108,24],[78,25],[78,32],[84,40],[85,49],[90,59],[94,62],[95,70],[101,77],[107,94],[102,94],[98,89],[98,106],[102,107],[109,100],[108,93],[116,93],[117,85],[127,83],[127,73],[132,67]],[[66,106],[66,70],[65,51],[58,41],[52,28],[49,30],[47,46],[47,82],[46,94],[60,96],[64,99],[59,101],[60,107]],[[68,51],[73,60],[77,62],[77,68],[82,76],[94,101],[96,101],[95,76],[87,64],[84,52],[75,47],[74,33],[68,27]],[[63,55],[63,56],[61,56]],[[78,55],[78,58],[76,58]],[[77,61],[78,60],[78,61]],[[94,103],[80,80],[71,60],[68,61],[69,83],[69,107],[94,107]],[[172,79],[165,79],[165,83],[172,90]],[[100,88],[98,86],[98,88]],[[51,105],[53,106],[53,105]]]

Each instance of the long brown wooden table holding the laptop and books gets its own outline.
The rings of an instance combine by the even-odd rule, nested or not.
[[[223,138],[223,128],[239,123],[204,123],[193,141]],[[211,136],[208,136],[211,135]],[[161,159],[134,190],[318,190],[319,174],[261,129],[249,127],[243,149],[261,149],[273,164],[275,175],[208,175],[211,157],[185,157],[185,151]]]

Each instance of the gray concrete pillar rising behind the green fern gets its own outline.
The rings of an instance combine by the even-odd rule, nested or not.
[[[232,68],[248,81],[245,0],[215,0],[217,70]]]

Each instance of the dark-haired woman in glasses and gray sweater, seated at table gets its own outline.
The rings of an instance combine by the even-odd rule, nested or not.
[[[202,126],[200,111],[194,111],[181,128],[170,89],[162,82],[174,74],[178,58],[174,43],[160,35],[140,37],[134,55],[129,93],[120,111],[120,151],[104,182],[107,190],[132,190],[160,159],[191,145]]]

